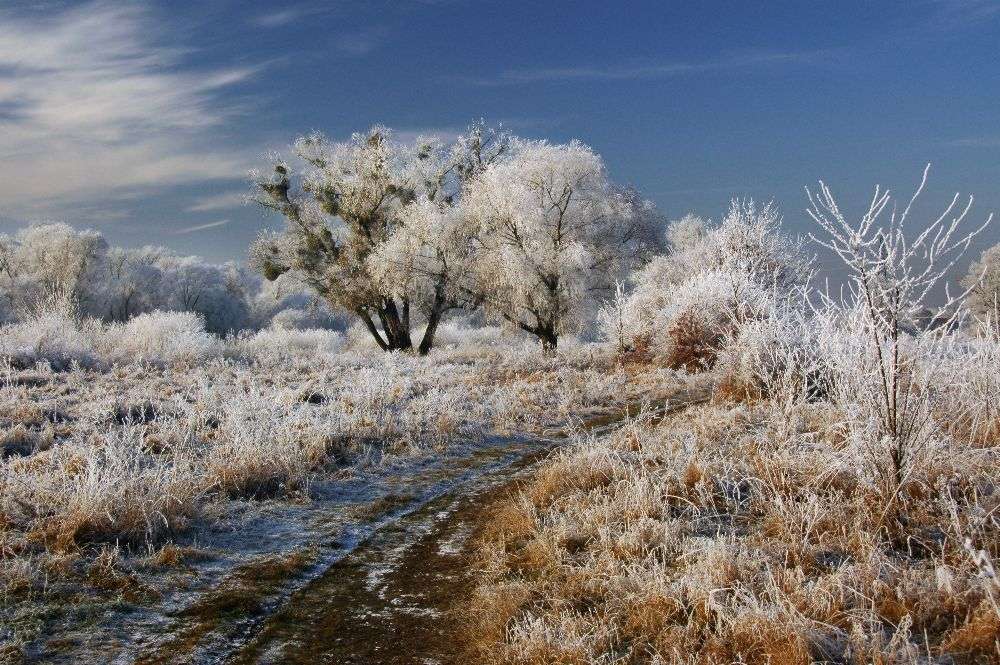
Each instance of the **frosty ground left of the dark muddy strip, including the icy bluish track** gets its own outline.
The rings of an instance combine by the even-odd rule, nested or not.
[[[0,381],[0,637],[45,662],[225,653],[386,521],[677,382],[586,346],[25,364]]]

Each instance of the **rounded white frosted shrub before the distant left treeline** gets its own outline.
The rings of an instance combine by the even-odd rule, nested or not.
[[[110,358],[165,365],[193,365],[222,353],[222,342],[205,331],[204,321],[190,312],[150,312],[125,324],[111,324],[105,335]]]

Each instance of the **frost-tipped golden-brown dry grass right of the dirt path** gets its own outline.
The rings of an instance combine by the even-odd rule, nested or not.
[[[792,433],[774,413],[692,407],[557,453],[484,528],[476,657],[1000,661],[992,582],[964,545],[1000,550],[996,452],[927,460],[885,524],[836,408],[798,405]]]

